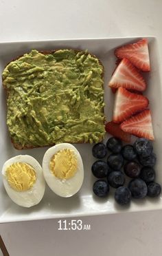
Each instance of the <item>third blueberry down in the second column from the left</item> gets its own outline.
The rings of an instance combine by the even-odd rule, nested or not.
[[[113,188],[118,188],[123,186],[125,182],[124,173],[122,171],[112,171],[108,174],[108,184],[113,186]]]

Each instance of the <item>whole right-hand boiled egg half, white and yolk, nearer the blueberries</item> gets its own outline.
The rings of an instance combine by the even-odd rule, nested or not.
[[[76,147],[60,143],[48,149],[43,158],[43,174],[57,195],[69,198],[76,194],[84,179],[82,158]]]

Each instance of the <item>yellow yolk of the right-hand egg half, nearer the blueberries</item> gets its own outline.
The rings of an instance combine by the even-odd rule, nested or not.
[[[52,156],[51,172],[60,179],[72,178],[77,171],[77,159],[72,149],[62,149]]]

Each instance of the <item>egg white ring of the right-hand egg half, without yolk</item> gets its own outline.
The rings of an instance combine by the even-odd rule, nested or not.
[[[72,149],[74,151],[77,159],[77,171],[72,178],[61,180],[60,178],[57,178],[53,173],[51,173],[49,163],[52,156],[63,149]],[[69,143],[60,143],[48,149],[45,152],[45,156],[43,157],[43,175],[49,188],[57,195],[60,195],[63,198],[69,198],[76,194],[80,190],[84,180],[84,167],[82,158],[76,147]]]

